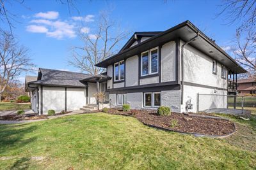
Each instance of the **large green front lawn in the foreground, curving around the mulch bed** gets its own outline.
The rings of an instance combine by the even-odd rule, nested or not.
[[[235,121],[239,129],[227,139],[106,113],[0,125],[0,169],[255,169],[255,121]]]

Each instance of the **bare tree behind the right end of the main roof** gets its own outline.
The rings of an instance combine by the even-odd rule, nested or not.
[[[253,32],[250,29],[237,29],[231,48],[236,61],[244,66],[249,74],[256,73],[256,50]]]

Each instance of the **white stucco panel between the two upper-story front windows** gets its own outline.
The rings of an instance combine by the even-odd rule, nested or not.
[[[139,59],[138,55],[125,61],[125,86],[138,85]]]

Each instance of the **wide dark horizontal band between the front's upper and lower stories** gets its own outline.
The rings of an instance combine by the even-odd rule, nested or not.
[[[180,90],[180,85],[164,85],[157,87],[143,87],[140,89],[127,89],[126,88],[118,88],[109,90],[109,94],[123,94],[123,93],[134,93],[134,92],[159,92],[164,90]]]

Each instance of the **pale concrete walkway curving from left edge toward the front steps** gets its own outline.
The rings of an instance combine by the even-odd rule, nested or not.
[[[66,117],[70,115],[79,115],[79,114],[86,114],[86,113],[83,113],[83,111],[81,110],[76,110],[64,115],[56,115],[56,116],[51,116],[48,118],[38,119],[38,120],[0,120],[0,124],[24,124],[24,123],[38,122],[38,121],[49,120],[49,119],[54,119],[59,117]]]

